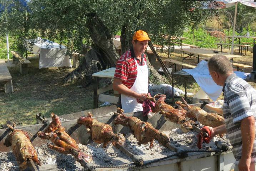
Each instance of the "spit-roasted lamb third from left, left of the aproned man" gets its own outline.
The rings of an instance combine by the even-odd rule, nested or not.
[[[77,124],[85,125],[88,133],[91,134],[92,140],[97,143],[103,143],[102,148],[106,148],[107,144],[111,142],[114,146],[116,144],[124,145],[125,137],[122,134],[114,134],[112,127],[109,124],[98,122],[92,118],[92,114],[88,112],[87,117],[80,117],[77,120]]]

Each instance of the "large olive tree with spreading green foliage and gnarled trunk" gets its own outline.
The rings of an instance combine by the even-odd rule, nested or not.
[[[139,29],[146,31],[152,42],[181,36],[187,25],[206,16],[195,17],[205,12],[190,10],[197,5],[183,0],[32,0],[28,2],[29,15],[22,22],[29,25],[30,35],[37,33],[65,44],[69,55],[83,54],[79,67],[64,80],[80,79],[90,84],[92,73],[114,67],[119,59],[112,41],[117,32],[121,31],[123,53],[131,47],[132,35]],[[84,44],[91,46],[86,53],[83,53]],[[155,79],[167,82],[149,66]]]

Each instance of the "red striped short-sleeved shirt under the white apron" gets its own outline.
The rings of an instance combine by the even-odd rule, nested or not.
[[[141,55],[142,65],[146,65],[145,57],[145,54]],[[122,84],[129,89],[131,89],[137,77],[137,65],[135,60],[137,60],[138,65],[141,65],[140,60],[135,57],[133,49],[131,48],[125,52],[116,63],[114,78],[122,79]]]

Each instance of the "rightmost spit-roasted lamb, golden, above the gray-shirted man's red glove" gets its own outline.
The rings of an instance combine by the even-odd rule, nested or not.
[[[207,113],[203,109],[197,106],[190,106],[187,102],[182,98],[185,105],[181,102],[176,102],[176,104],[187,107],[189,110],[187,111],[187,117],[195,118],[198,122],[205,126],[210,127],[218,127],[224,124],[224,118],[217,113]]]

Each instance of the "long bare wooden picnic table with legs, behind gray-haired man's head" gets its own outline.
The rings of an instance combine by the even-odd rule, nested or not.
[[[187,49],[180,49],[180,50],[183,52],[182,62],[184,59],[189,57],[197,58],[197,63],[199,63],[200,57],[205,57],[210,59],[213,55],[224,55],[225,57],[229,58],[231,62],[233,62],[233,58],[242,57],[241,55],[233,55],[233,54],[227,54],[223,52],[214,53],[213,52],[214,50],[207,50],[207,49],[200,49],[200,48],[196,48],[196,49],[187,48]],[[187,54],[188,56],[184,57],[184,54]]]

